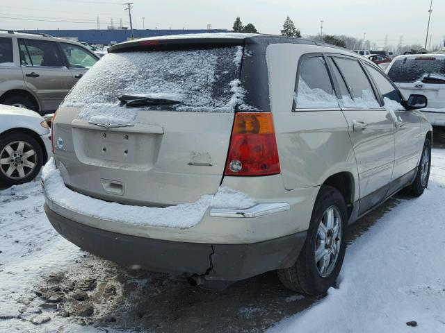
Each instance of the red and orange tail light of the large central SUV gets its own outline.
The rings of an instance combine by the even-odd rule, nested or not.
[[[280,173],[280,160],[272,114],[236,113],[225,175],[268,176],[277,173]]]

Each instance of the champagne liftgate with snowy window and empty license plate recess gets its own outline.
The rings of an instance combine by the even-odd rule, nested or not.
[[[54,123],[56,162],[70,188],[155,207],[218,191],[246,94],[243,48],[171,48],[110,53],[74,86]],[[118,99],[124,94],[179,103],[133,108]]]

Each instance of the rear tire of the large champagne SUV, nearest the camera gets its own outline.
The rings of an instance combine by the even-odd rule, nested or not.
[[[334,228],[327,228],[329,238],[325,236],[325,242],[330,244],[323,245],[321,236],[318,234],[318,228],[322,223],[327,224],[326,218],[329,210],[333,211],[334,221],[341,226],[338,237],[335,237]],[[341,221],[338,221],[338,219]],[[332,287],[340,273],[341,265],[346,250],[346,235],[348,226],[348,212],[346,204],[340,192],[334,187],[323,185],[318,192],[314,211],[312,212],[307,238],[296,263],[290,268],[278,271],[278,277],[284,287],[309,296],[323,294]],[[325,228],[326,230],[326,228]],[[329,239],[329,241],[326,241]],[[338,240],[336,240],[338,239]],[[337,245],[334,245],[337,244]],[[323,261],[326,257],[316,262],[316,248],[323,251],[334,251],[337,248],[337,259],[334,260],[335,254],[327,254],[329,258],[329,266],[323,273]]]

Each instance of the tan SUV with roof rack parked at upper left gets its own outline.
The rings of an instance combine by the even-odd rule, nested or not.
[[[78,42],[0,31],[0,104],[54,111],[97,60]]]

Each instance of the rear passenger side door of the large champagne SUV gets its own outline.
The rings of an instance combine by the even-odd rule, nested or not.
[[[394,120],[379,104],[357,59],[332,56],[330,67],[341,92],[340,106],[357,160],[362,213],[387,194],[394,165]]]

